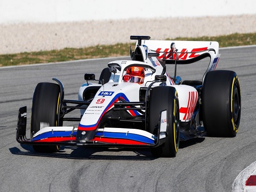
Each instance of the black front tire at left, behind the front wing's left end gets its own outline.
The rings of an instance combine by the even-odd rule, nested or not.
[[[32,100],[31,137],[41,128],[58,125],[60,87],[55,83],[38,83]],[[59,122],[62,125],[62,122]],[[33,145],[37,152],[58,152],[58,145]]]

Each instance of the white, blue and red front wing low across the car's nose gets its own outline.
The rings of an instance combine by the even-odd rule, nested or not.
[[[160,139],[163,133],[160,129],[158,136],[140,129],[129,128],[99,128],[92,140],[76,140],[77,128],[75,127],[45,127],[38,131],[32,138],[26,138],[26,107],[19,110],[16,140],[18,143],[29,145],[66,145],[66,146],[105,146],[148,148],[156,147],[166,141]],[[85,134],[85,133],[84,133]]]

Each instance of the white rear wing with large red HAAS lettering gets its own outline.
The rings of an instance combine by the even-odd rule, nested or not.
[[[149,40],[149,36],[133,36],[133,39],[138,39],[137,46],[147,47],[147,56],[155,53],[152,55],[165,64],[191,64],[209,57],[209,66],[204,76],[216,69],[220,58],[216,41],[162,41]]]

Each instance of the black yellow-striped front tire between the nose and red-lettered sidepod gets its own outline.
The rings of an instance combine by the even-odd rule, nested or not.
[[[166,111],[166,142],[151,148],[154,157],[175,157],[180,141],[180,113],[177,91],[174,87],[152,88],[148,105],[149,132],[158,135],[160,114]]]

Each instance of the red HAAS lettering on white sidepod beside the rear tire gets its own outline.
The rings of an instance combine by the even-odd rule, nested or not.
[[[198,99],[197,91],[189,91],[188,105],[186,108],[180,108],[180,113],[185,113],[183,120],[189,120],[195,110],[195,105]]]

